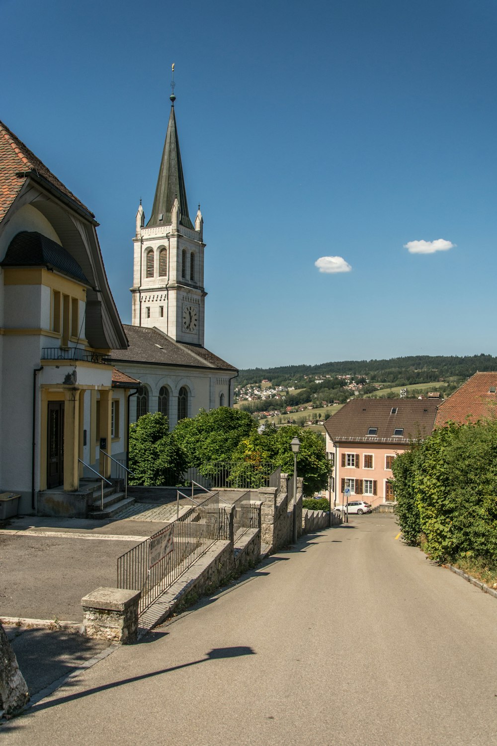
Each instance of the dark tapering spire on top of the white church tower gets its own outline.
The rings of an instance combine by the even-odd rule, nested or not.
[[[153,207],[147,228],[156,225],[171,225],[171,210],[174,200],[180,204],[181,225],[193,230],[186,201],[185,180],[181,165],[180,141],[178,140],[174,104],[171,106],[168,131],[165,135],[164,150],[160,163],[159,178],[153,198]]]

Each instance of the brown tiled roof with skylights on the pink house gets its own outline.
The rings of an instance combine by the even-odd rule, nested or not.
[[[437,401],[430,399],[352,399],[324,427],[334,442],[405,445],[431,433],[436,413]],[[374,429],[376,433],[367,434]],[[395,430],[402,433],[394,436]]]

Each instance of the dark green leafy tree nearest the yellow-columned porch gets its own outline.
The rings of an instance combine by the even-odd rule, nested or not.
[[[161,486],[180,483],[186,459],[168,420],[159,412],[146,414],[130,424],[130,484]]]

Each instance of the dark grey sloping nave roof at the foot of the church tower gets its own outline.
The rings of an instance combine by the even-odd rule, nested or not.
[[[221,360],[205,347],[174,342],[156,327],[139,327],[124,324],[130,346],[127,350],[113,350],[113,360],[126,363],[153,363],[183,368],[209,368],[236,372],[237,369]]]

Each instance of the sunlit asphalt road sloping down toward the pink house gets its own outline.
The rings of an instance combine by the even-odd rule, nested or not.
[[[303,539],[0,729],[3,744],[489,746],[497,599],[388,515]]]

